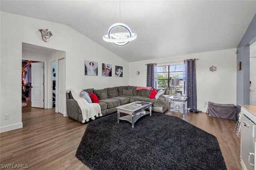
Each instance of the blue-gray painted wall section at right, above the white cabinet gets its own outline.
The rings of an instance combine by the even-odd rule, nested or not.
[[[250,104],[250,45],[256,41],[256,14],[248,26],[237,47],[237,62],[241,62],[241,70],[236,74],[236,107],[239,104]]]

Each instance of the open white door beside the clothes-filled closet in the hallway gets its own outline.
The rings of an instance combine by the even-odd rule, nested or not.
[[[44,63],[31,63],[31,107],[44,108]]]

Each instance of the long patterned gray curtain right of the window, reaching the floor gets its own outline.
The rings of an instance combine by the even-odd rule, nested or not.
[[[184,92],[188,97],[188,108],[197,109],[196,95],[196,61],[184,60]]]

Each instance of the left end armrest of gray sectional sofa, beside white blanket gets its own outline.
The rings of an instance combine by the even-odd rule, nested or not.
[[[68,99],[66,101],[67,105],[67,115],[68,117],[72,117],[73,119],[76,119],[78,121],[78,115],[79,115],[79,105],[74,99]]]

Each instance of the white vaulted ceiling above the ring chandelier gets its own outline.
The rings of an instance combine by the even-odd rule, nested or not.
[[[256,14],[255,0],[0,3],[1,11],[68,25],[129,62],[236,48]],[[102,39],[117,22],[116,8],[120,6],[122,22],[137,34],[137,39],[124,47]]]

